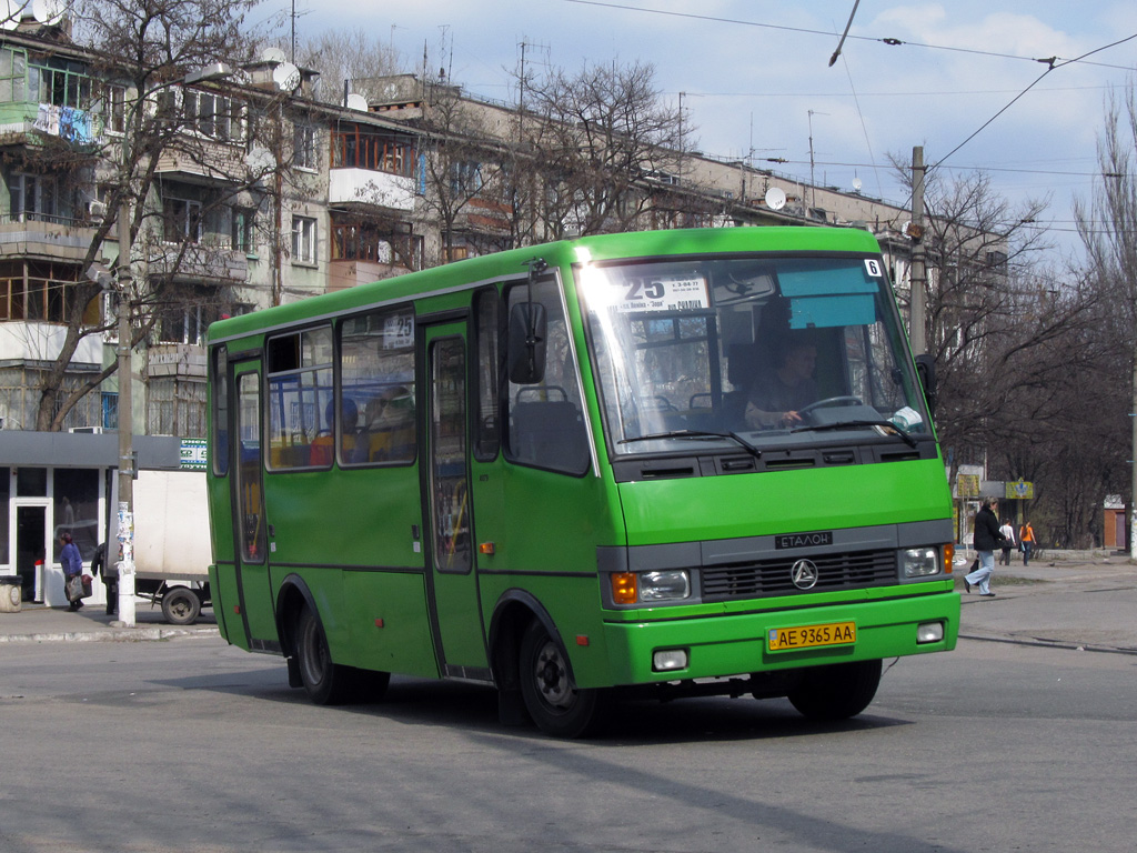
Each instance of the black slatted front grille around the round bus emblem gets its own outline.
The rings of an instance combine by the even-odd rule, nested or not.
[[[811,556],[818,566],[818,582],[811,589],[794,586],[794,564],[800,557],[781,557],[755,563],[704,566],[703,601],[723,602],[774,595],[830,593],[839,589],[882,587],[897,582],[895,550],[863,550],[850,554]]]

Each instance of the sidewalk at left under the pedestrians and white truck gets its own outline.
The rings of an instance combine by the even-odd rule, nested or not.
[[[217,620],[206,610],[194,624],[172,626],[161,608],[139,599],[134,627],[123,627],[118,616],[108,616],[102,605],[88,605],[76,613],[66,607],[44,607],[24,603],[18,613],[0,613],[0,645],[5,643],[118,641],[171,639],[173,637],[216,637]]]

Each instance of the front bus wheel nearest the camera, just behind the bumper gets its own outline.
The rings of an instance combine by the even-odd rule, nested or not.
[[[537,727],[554,737],[584,737],[597,730],[607,711],[607,694],[572,682],[561,646],[538,620],[521,638],[521,695]]]

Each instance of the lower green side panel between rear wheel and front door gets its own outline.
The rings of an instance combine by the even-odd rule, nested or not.
[[[421,574],[347,572],[343,619],[351,641],[332,659],[349,666],[438,678]]]

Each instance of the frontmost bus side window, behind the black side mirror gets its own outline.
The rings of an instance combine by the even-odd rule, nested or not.
[[[508,308],[529,298],[524,284],[508,293]],[[533,301],[545,306],[546,366],[536,384],[509,382],[509,432],[506,458],[521,465],[582,474],[590,454],[580,398],[580,374],[555,280],[533,285]]]

